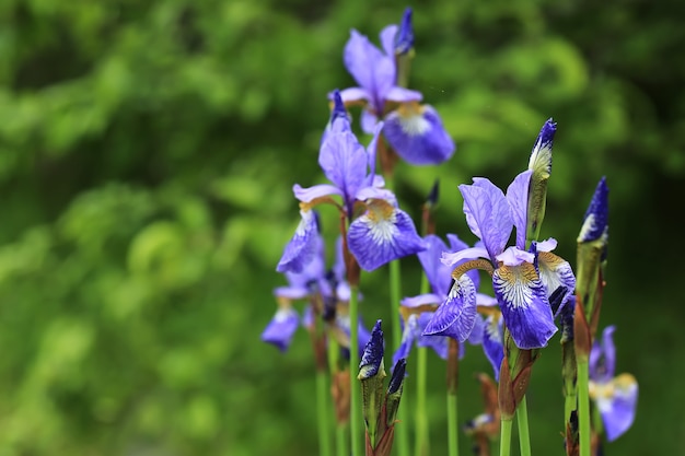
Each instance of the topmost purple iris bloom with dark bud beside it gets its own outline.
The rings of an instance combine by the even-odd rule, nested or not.
[[[388,25],[380,35],[381,49],[368,37],[352,30],[345,46],[347,70],[359,84],[345,89],[345,103],[365,103],[361,128],[370,133],[379,119],[384,119],[383,135],[390,145],[408,163],[439,164],[455,150],[440,116],[429,105],[420,105],[420,92],[397,85],[396,54],[405,54],[414,45],[411,10],[402,26]]]

